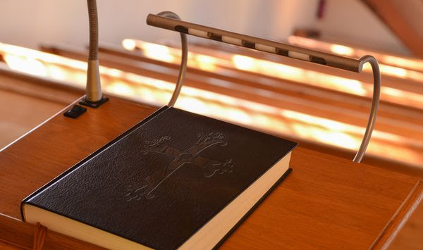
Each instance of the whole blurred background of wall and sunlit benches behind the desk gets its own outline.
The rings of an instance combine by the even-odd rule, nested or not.
[[[0,2],[0,148],[83,94],[88,15],[83,0]],[[161,106],[180,62],[179,36],[148,13],[328,53],[375,56],[381,106],[364,162],[423,168],[423,0],[98,0],[102,85]],[[362,73],[188,37],[176,106],[353,158],[367,123],[372,70]],[[414,172],[413,172],[414,171]]]

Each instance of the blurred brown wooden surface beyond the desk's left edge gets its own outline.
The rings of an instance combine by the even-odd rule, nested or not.
[[[25,77],[25,74],[13,72],[0,62],[0,149],[83,93],[82,89],[65,87],[47,79]]]

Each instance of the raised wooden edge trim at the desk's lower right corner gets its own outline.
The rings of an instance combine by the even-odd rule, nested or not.
[[[388,249],[388,246],[419,206],[422,199],[423,182],[419,180],[369,249]]]

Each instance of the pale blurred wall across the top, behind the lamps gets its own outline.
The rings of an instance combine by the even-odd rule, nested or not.
[[[152,42],[178,39],[174,32],[145,24],[148,13],[174,11],[193,23],[281,39],[304,22],[296,15],[313,16],[316,4],[317,0],[97,0],[99,36],[102,42],[114,44],[128,37]],[[43,42],[84,46],[88,42],[86,1],[1,0],[0,42],[33,48]]]

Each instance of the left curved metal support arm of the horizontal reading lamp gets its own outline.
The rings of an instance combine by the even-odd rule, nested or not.
[[[176,15],[176,13],[173,13],[171,11],[163,11],[161,13],[158,13],[157,15],[161,15],[166,18],[173,18],[173,19],[180,20],[179,16]],[[180,33],[180,43],[182,44],[182,59],[180,61],[178,81],[176,82],[175,90],[173,90],[171,101],[169,101],[168,103],[169,107],[175,106],[176,99],[178,99],[180,89],[182,88],[183,82],[185,80],[185,73],[187,71],[188,43],[187,43],[187,35],[185,35],[184,33]]]

